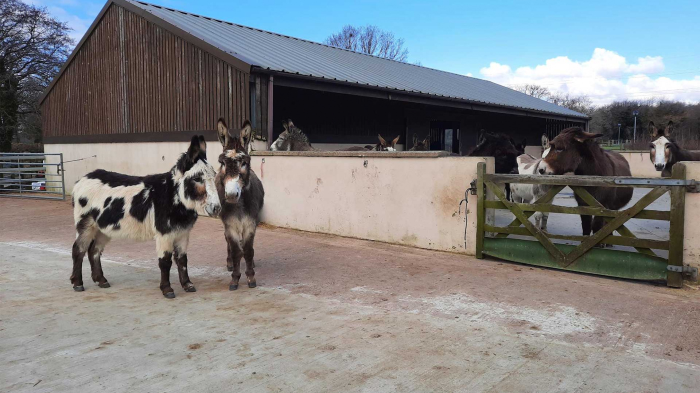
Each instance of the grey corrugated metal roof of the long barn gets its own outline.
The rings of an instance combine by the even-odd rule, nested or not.
[[[587,118],[582,113],[483,79],[387,60],[163,6],[127,1],[262,69]]]

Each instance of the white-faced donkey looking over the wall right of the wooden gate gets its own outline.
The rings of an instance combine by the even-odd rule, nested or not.
[[[673,121],[659,130],[653,121],[649,122],[652,143],[649,145],[649,158],[662,177],[671,177],[671,168],[678,161],[700,161],[700,152],[683,150],[673,139]]]

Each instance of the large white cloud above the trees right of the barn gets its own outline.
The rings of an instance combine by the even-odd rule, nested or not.
[[[666,71],[661,56],[639,57],[630,63],[622,55],[603,48],[596,48],[584,62],[559,56],[546,60],[545,64],[519,67],[515,71],[507,64],[491,62],[479,73],[501,85],[534,83],[550,90],[588,95],[596,104],[647,97],[700,101],[700,72],[672,79],[664,74],[680,74]]]

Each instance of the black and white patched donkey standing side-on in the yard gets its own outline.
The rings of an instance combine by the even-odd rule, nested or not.
[[[174,260],[180,284],[195,292],[187,273],[187,246],[197,215],[216,217],[221,212],[216,171],[207,163],[207,144],[196,135],[172,170],[144,177],[95,170],[80,178],[73,188],[73,243],[71,284],[84,291],[83,257],[87,254],[92,280],[109,287],[102,273],[100,256],[111,238],[151,240],[155,238],[160,267],[160,290],[174,298],[170,268]]]

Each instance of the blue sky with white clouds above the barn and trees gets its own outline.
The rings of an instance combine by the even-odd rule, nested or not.
[[[33,0],[79,37],[102,1]],[[346,23],[405,39],[409,61],[504,85],[700,100],[700,1],[190,1],[155,4],[323,41]],[[631,78],[629,78],[631,77]]]

